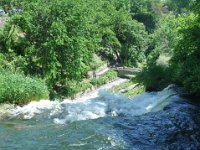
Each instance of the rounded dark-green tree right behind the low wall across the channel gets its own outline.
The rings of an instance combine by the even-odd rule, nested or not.
[[[126,66],[137,66],[138,62],[142,62],[144,51],[148,42],[148,34],[143,24],[135,20],[125,20],[119,18],[118,24],[115,26],[116,37],[121,43],[119,50],[120,61]],[[128,19],[128,18],[127,18]]]

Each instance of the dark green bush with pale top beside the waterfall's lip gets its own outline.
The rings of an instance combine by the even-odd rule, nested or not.
[[[147,66],[142,73],[136,76],[136,82],[145,85],[147,91],[162,90],[171,84],[171,68],[169,58],[155,53],[147,61]]]

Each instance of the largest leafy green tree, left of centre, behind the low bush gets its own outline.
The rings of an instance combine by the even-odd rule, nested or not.
[[[97,43],[88,3],[38,0],[21,4],[23,13],[13,15],[11,23],[23,34],[18,46],[26,59],[25,73],[40,76],[52,86],[80,80]]]

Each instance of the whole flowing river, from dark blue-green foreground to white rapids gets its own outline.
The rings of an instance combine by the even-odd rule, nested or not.
[[[173,86],[129,100],[106,89],[75,101],[0,106],[0,150],[200,149],[200,107]]]

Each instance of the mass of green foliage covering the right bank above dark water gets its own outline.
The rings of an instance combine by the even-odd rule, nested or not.
[[[189,6],[189,1],[170,3],[176,13],[182,13],[182,8]],[[200,3],[193,1],[191,6],[195,14],[169,14],[160,20],[152,34],[152,45],[146,51],[147,65],[138,76],[147,90],[159,90],[176,83],[189,94],[200,96]]]

